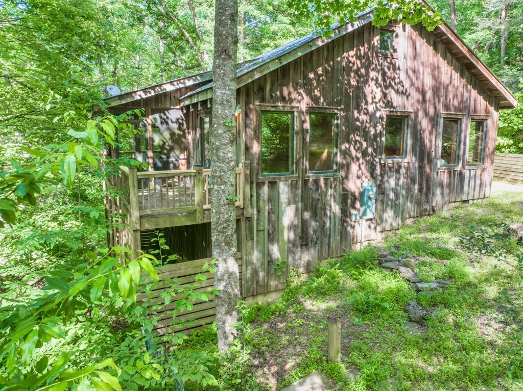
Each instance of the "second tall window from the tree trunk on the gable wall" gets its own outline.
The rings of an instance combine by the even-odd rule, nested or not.
[[[309,172],[336,170],[337,114],[309,115]]]

